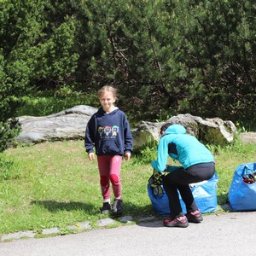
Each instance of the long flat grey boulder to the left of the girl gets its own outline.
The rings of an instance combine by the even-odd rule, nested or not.
[[[79,105],[43,117],[21,116],[18,143],[35,144],[45,141],[84,138],[84,131],[97,108]]]

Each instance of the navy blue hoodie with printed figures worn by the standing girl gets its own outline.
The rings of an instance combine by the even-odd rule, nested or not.
[[[96,155],[123,155],[133,149],[131,128],[125,113],[116,108],[106,113],[99,108],[90,118],[84,138],[87,153],[94,151]]]

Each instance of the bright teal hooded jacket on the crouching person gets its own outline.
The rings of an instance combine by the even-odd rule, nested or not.
[[[196,137],[187,134],[182,125],[170,125],[166,129],[165,135],[160,137],[157,160],[153,160],[151,166],[158,172],[164,172],[168,155],[173,160],[178,160],[184,169],[214,161],[210,150]]]

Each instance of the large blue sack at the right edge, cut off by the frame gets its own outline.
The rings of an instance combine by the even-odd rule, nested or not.
[[[241,164],[236,168],[229,191],[230,206],[234,211],[256,210],[256,183],[246,183],[243,177],[256,172],[256,163]]]

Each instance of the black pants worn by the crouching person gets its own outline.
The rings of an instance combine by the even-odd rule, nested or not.
[[[177,190],[185,203],[187,212],[194,212],[198,207],[196,206],[189,184],[209,180],[214,173],[215,165],[213,162],[210,162],[190,166],[187,169],[180,167],[164,177],[163,185],[169,200],[171,218],[183,216]]]

